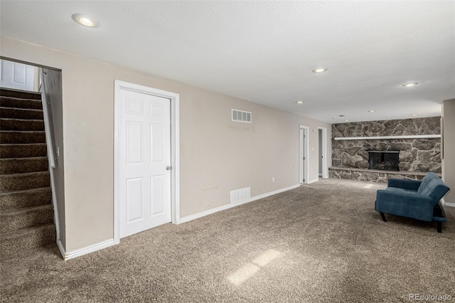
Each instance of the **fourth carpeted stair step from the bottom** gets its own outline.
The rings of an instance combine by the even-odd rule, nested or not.
[[[36,173],[0,175],[0,193],[11,193],[24,189],[49,187],[49,171]]]

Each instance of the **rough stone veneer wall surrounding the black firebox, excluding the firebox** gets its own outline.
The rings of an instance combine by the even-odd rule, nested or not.
[[[336,137],[385,137],[441,134],[441,117],[332,124],[333,169],[368,169],[369,150],[399,150],[400,171],[441,173],[441,139],[354,139]]]

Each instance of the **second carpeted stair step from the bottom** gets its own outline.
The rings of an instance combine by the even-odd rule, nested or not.
[[[52,204],[19,208],[0,213],[0,233],[53,223]]]

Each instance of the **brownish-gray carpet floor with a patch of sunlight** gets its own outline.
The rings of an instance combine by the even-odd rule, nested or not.
[[[374,210],[384,184],[325,179],[63,261],[2,260],[1,302],[410,302],[455,299],[449,222]],[[421,300],[422,302],[422,300]]]

